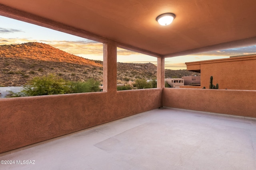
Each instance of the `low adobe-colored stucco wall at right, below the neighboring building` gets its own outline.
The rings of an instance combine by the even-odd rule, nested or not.
[[[175,100],[174,100],[175,99]],[[164,88],[163,106],[256,117],[256,90]]]

